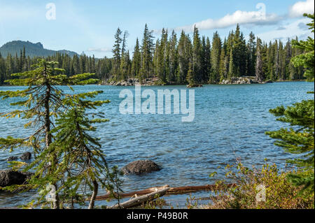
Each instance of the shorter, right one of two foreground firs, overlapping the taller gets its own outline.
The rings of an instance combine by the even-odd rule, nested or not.
[[[60,115],[56,127],[52,129],[52,134],[55,133],[52,148],[55,149],[56,154],[59,154],[57,159],[62,165],[58,165],[55,172],[46,175],[46,178],[64,176],[61,179],[62,184],[59,186],[59,196],[63,200],[63,206],[67,201],[71,204],[71,208],[73,208],[73,201],[84,205],[87,198],[90,198],[88,208],[92,209],[99,184],[102,187],[108,187],[106,175],[108,175],[109,168],[101,150],[102,146],[99,138],[94,138],[89,132],[96,131],[93,124],[109,120],[104,119],[104,113],[87,113],[86,110],[93,110],[109,101],[82,100],[85,97],[94,98],[99,93],[101,92],[75,94],[64,99],[63,103],[69,109]],[[91,115],[93,115],[93,119],[89,118]],[[97,116],[99,118],[95,118]],[[85,185],[90,187],[91,196],[88,195],[88,191],[85,191]]]

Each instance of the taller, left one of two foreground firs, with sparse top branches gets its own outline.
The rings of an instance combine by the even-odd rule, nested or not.
[[[65,111],[71,109],[73,101],[69,100],[69,95],[65,94],[60,85],[85,85],[94,83],[97,80],[90,78],[93,74],[83,73],[73,75],[70,78],[61,74],[63,69],[55,68],[57,62],[47,62],[45,59],[38,59],[38,64],[31,71],[24,73],[15,73],[12,76],[15,79],[6,80],[10,85],[24,85],[25,89],[17,91],[0,92],[2,99],[18,98],[18,101],[10,103],[11,106],[21,106],[25,109],[13,110],[10,113],[2,113],[2,117],[22,117],[29,120],[25,124],[25,128],[34,129],[34,134],[27,138],[0,138],[0,149],[14,150],[21,146],[33,149],[36,159],[24,171],[31,170],[34,175],[28,180],[26,185],[11,186],[7,189],[38,189],[43,191],[38,197],[37,204],[45,205],[45,194],[48,193],[46,187],[52,185],[56,189],[55,200],[52,201],[52,208],[61,208],[63,200],[59,196],[59,187],[62,188],[62,180],[65,175],[59,175],[56,171],[59,168],[64,169],[69,166],[67,160],[60,162],[60,154],[58,146],[55,146],[55,136],[52,127],[55,118],[60,117]],[[72,88],[71,88],[72,89]],[[99,92],[97,92],[99,93]],[[85,99],[87,96],[94,96],[95,92],[77,94],[78,99]],[[66,101],[68,101],[66,103]],[[93,103],[88,103],[90,108],[94,108]],[[69,134],[69,132],[68,132]],[[61,142],[60,142],[61,143]],[[64,143],[64,142],[62,142]],[[21,164],[18,162],[18,166]],[[25,164],[22,164],[25,165]],[[18,167],[17,166],[17,167]],[[91,173],[92,174],[92,173]]]

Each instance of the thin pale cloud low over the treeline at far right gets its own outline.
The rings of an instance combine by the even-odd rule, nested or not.
[[[299,39],[304,39],[307,36],[314,36],[309,29],[305,29],[307,23],[309,23],[309,19],[303,18],[284,25],[281,29],[267,31],[262,34],[258,34],[257,36],[265,42],[274,41],[275,39],[282,39],[283,41],[286,41],[288,38],[292,39],[296,36]]]

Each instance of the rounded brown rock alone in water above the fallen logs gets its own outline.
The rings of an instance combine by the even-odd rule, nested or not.
[[[155,162],[151,160],[138,160],[133,161],[127,166],[124,166],[121,170],[123,173],[127,174],[141,174],[141,173],[151,173],[152,171],[160,171],[160,166],[155,164]]]

